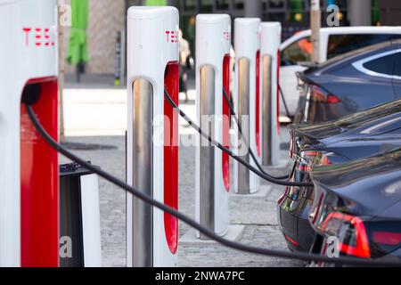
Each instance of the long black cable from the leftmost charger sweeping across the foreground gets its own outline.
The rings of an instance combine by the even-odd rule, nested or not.
[[[25,105],[29,118],[32,124],[37,129],[37,132],[42,136],[42,138],[47,142],[55,151],[60,152],[66,158],[71,159],[72,161],[77,162],[82,167],[85,167],[87,170],[92,171],[94,174],[101,176],[106,179],[110,183],[113,183],[119,186],[121,189],[131,193],[136,198],[143,200],[143,202],[155,207],[160,210],[168,213],[171,216],[175,216],[177,219],[181,220],[185,224],[192,226],[192,228],[198,230],[205,236],[209,237],[211,240],[216,240],[218,243],[226,246],[227,248],[233,248],[236,250],[240,250],[243,252],[248,252],[252,254],[258,254],[263,256],[276,256],[288,259],[299,259],[304,261],[315,261],[315,262],[323,262],[328,264],[337,264],[337,265],[357,265],[357,266],[389,266],[389,267],[401,267],[401,263],[397,262],[389,262],[389,261],[377,261],[372,259],[362,259],[356,257],[328,257],[328,256],[319,256],[316,254],[310,253],[302,253],[302,252],[289,252],[284,250],[276,250],[276,249],[268,249],[268,248],[257,248],[251,247],[248,245],[244,245],[238,242],[234,242],[231,240],[225,240],[224,238],[215,234],[215,232],[210,231],[208,228],[198,224],[196,221],[192,220],[189,216],[178,212],[175,208],[171,208],[168,205],[161,203],[156,199],[152,199],[150,196],[145,194],[143,191],[138,191],[134,187],[128,185],[127,183],[119,180],[119,178],[110,175],[109,173],[94,167],[92,164],[86,162],[85,159],[78,158],[75,154],[70,151],[67,151],[63,148],[58,142],[54,141],[52,136],[50,136],[45,128],[39,123],[37,120],[37,116],[35,115],[34,110],[28,104]]]

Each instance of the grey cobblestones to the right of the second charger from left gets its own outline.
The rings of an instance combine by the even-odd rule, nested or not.
[[[287,135],[283,132],[283,135]],[[194,216],[194,148],[180,149],[180,208],[186,214]],[[282,157],[287,151],[282,151]],[[274,172],[279,175],[287,169]],[[247,198],[231,196],[229,202],[231,224],[245,225],[245,231],[239,242],[262,248],[287,250],[282,233],[278,229],[276,200],[282,193],[280,188],[272,188],[266,197]],[[189,230],[186,224],[180,224],[180,235]],[[179,266],[301,266],[299,261],[275,257],[257,256],[225,248],[217,243],[182,244],[178,253]]]

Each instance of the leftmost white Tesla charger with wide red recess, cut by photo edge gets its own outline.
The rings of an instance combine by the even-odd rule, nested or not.
[[[56,0],[0,0],[0,266],[58,266]],[[38,98],[38,100],[36,100]]]

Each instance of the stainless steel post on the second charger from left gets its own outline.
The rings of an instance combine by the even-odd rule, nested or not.
[[[152,122],[153,90],[145,79],[136,79],[133,84],[133,187],[153,197],[152,193]],[[143,201],[132,199],[133,266],[153,266],[152,208]]]

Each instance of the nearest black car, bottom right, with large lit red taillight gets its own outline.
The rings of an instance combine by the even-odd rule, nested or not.
[[[316,167],[311,177],[315,202],[309,220],[323,237],[316,240],[322,255],[331,246],[338,256],[401,262],[401,149]]]

